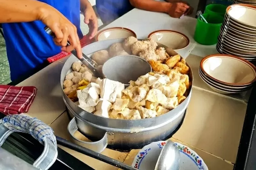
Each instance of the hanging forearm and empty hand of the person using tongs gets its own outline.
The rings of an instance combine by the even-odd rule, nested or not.
[[[80,0],[81,12],[84,14],[84,23],[89,27],[89,39],[92,39],[98,31],[98,19],[88,0]]]

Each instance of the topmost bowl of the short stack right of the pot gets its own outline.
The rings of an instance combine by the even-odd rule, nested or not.
[[[215,54],[204,57],[200,68],[211,79],[227,85],[245,86],[256,81],[256,67],[232,55]]]

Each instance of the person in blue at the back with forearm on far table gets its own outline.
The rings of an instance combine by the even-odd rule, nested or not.
[[[167,13],[173,18],[189,15],[193,8],[187,2],[180,0],[96,0],[97,13],[103,24],[109,24],[133,8],[141,10]]]

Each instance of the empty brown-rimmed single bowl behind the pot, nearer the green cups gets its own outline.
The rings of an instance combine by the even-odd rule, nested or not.
[[[186,35],[172,30],[158,30],[150,33],[148,38],[152,38],[157,43],[163,44],[173,50],[180,50],[189,45]]]

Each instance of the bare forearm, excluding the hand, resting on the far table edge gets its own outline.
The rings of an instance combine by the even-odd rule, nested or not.
[[[167,13],[171,3],[155,0],[129,0],[133,7],[141,10]]]

